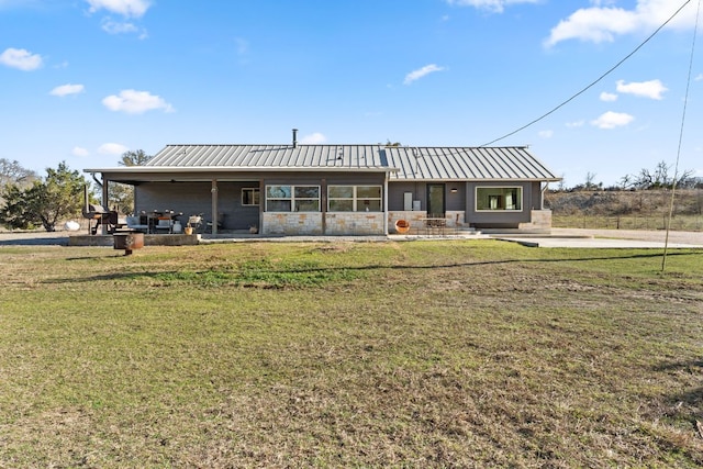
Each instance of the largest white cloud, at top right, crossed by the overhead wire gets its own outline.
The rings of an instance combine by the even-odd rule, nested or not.
[[[626,10],[602,7],[602,3],[605,2],[594,2],[593,7],[579,9],[568,19],[561,20],[551,29],[545,45],[550,47],[567,40],[612,42],[617,35],[651,32],[669,19],[679,4],[672,4],[671,0],[637,0],[634,10]],[[668,27],[692,27],[695,24],[695,13],[694,2],[691,2]]]

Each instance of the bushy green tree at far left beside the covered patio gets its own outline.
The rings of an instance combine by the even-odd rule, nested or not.
[[[2,223],[14,228],[31,228],[41,223],[44,230],[54,232],[57,222],[81,212],[86,183],[78,171],[71,171],[63,161],[57,169],[47,168],[46,178],[27,188],[9,185],[2,190]]]

